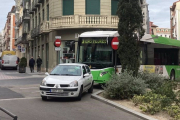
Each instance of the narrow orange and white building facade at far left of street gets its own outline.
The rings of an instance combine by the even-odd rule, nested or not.
[[[15,6],[12,7],[11,11],[7,15],[7,20],[5,23],[5,27],[3,30],[3,47],[4,50],[15,50],[14,42],[15,42]]]

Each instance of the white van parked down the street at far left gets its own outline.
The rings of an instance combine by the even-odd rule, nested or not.
[[[18,61],[16,55],[4,55],[1,60],[1,70],[14,68],[17,70]]]

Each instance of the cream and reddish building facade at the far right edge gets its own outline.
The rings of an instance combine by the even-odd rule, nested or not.
[[[180,40],[180,1],[170,7],[171,38]]]

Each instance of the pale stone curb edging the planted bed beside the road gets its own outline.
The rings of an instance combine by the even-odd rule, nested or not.
[[[129,108],[124,107],[124,106],[122,106],[122,105],[120,105],[120,104],[118,104],[118,103],[112,102],[112,101],[110,101],[110,100],[108,100],[108,99],[106,99],[106,98],[103,98],[103,97],[101,97],[101,96],[98,96],[98,94],[100,94],[100,93],[102,93],[102,92],[103,92],[103,91],[100,90],[100,91],[98,91],[98,92],[95,92],[95,93],[91,94],[91,98],[96,99],[96,100],[98,100],[98,101],[101,101],[101,102],[103,102],[103,103],[106,103],[106,104],[108,104],[108,105],[111,105],[111,106],[113,106],[113,107],[115,107],[115,108],[117,108],[117,109],[119,109],[119,110],[122,110],[122,111],[124,111],[124,112],[130,113],[130,114],[135,115],[135,116],[137,116],[137,117],[139,117],[139,118],[141,118],[141,119],[144,119],[144,120],[158,120],[158,119],[149,117],[149,116],[147,116],[147,115],[144,115],[144,114],[142,114],[142,113],[136,112],[136,111],[134,111],[134,110],[130,110]]]

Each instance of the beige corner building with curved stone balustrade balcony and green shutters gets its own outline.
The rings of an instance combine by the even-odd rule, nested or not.
[[[19,17],[27,14],[30,19],[23,22],[22,28],[27,30],[22,35],[21,42],[16,42],[25,48],[27,59],[31,56],[36,60],[42,58],[42,71],[51,71],[57,64],[76,62],[77,42],[70,50],[70,43],[78,41],[78,35],[86,31],[117,30],[116,15],[118,0],[15,0],[20,10]],[[139,0],[144,8],[143,0]],[[21,10],[22,8],[22,10]],[[18,16],[18,15],[17,15]],[[29,17],[28,17],[29,18]],[[148,22],[149,23],[149,22]],[[144,23],[146,25],[147,22]],[[146,27],[144,27],[146,28]],[[146,28],[146,31],[149,29]],[[54,47],[55,37],[61,37],[61,51]],[[71,52],[68,52],[71,51]],[[22,53],[22,51],[21,51]]]

